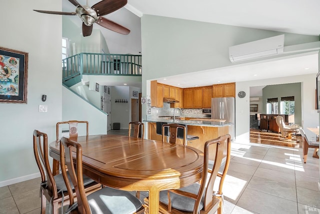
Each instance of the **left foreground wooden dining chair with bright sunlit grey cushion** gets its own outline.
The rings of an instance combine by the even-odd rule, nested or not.
[[[72,154],[75,153],[74,169]],[[79,143],[62,137],[60,140],[60,164],[65,185],[70,194],[70,204],[67,211],[70,213],[143,213],[141,201],[128,191],[103,187],[102,189],[85,195],[82,177],[82,147]],[[70,179],[64,166],[67,166]],[[77,202],[71,194],[71,183],[75,187]]]

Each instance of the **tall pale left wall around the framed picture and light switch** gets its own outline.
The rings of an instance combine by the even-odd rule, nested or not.
[[[0,103],[0,186],[39,176],[32,132],[55,140],[55,124],[61,121],[61,16],[33,9],[61,11],[61,0],[1,1],[0,47],[28,53],[27,104]],[[14,11],[14,14],[13,13]],[[42,94],[47,95],[45,102]],[[47,105],[48,112],[38,112]]]

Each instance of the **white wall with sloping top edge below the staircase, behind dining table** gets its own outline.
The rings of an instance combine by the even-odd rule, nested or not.
[[[86,102],[65,87],[62,89],[62,93],[62,121],[88,121],[89,135],[106,134],[107,115],[103,111],[95,108],[91,103]],[[78,134],[79,136],[85,135],[85,129],[79,129]]]

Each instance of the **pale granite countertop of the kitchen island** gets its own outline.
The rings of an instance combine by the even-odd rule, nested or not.
[[[173,123],[173,119],[161,119],[161,118],[158,118],[158,119],[143,120],[143,122]],[[174,123],[179,123],[179,124],[183,124],[183,125],[192,125],[192,126],[212,126],[212,127],[223,127],[223,126],[232,125],[232,123],[207,121],[207,120],[175,120]]]

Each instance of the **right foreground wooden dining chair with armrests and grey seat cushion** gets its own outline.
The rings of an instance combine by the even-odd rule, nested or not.
[[[215,148],[214,148],[215,147]],[[215,151],[213,168],[209,167],[209,154]],[[159,213],[222,213],[222,186],[230,163],[230,135],[224,135],[204,144],[203,172],[200,183],[193,183],[179,189],[160,191]],[[225,159],[225,163],[222,160]],[[222,172],[219,172],[222,170]],[[219,179],[216,179],[219,177]],[[218,182],[213,191],[214,182]],[[144,199],[148,206],[148,198]]]

